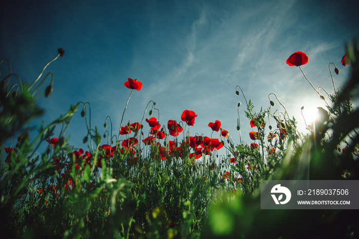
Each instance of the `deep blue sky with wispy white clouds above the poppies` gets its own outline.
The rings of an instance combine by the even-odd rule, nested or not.
[[[15,0],[0,9],[0,58],[10,59],[13,72],[31,83],[57,48],[65,49],[64,58],[45,71],[54,73],[54,91],[45,99],[50,82],[42,86],[38,103],[45,114],[35,121],[37,125],[41,120],[50,123],[71,104],[83,101],[91,104],[92,126],[103,133],[110,115],[117,134],[130,94],[124,83],[130,77],[138,78],[143,88],[133,92],[123,125],[128,120],[141,121],[152,100],[161,125],[181,121],[184,110],[193,110],[198,116],[190,130],[192,136],[210,136],[208,123],[219,120],[239,144],[238,102],[243,103],[241,132],[246,142],[250,142],[252,129],[244,114],[245,100],[235,95],[236,85],[241,85],[255,110],[267,108],[268,94],[276,93],[303,132],[301,107],[324,106],[300,69],[286,64],[293,52],[309,56],[302,69],[316,88],[333,92],[330,62],[341,70],[334,76],[336,86],[344,86],[349,68],[341,65],[341,58],[345,44],[359,33],[354,4],[356,1]],[[0,70],[4,75],[5,65]],[[75,148],[86,149],[82,143],[86,126],[79,111],[67,135]],[[143,124],[149,130],[145,121]]]

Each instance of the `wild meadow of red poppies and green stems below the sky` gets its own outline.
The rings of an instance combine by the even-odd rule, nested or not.
[[[29,123],[43,113],[35,93],[51,80],[45,89],[51,97],[53,74],[46,68],[65,50],[59,48],[29,86],[2,59],[0,65],[8,65],[0,85],[3,238],[354,238],[354,210],[261,210],[259,190],[263,180],[358,180],[356,43],[346,52],[342,64],[351,77],[335,86],[340,72],[330,63],[331,90],[314,87],[305,75],[301,66],[310,56],[304,52],[283,59],[299,68],[327,106],[318,108],[305,133],[274,93],[256,112],[239,85],[229,89],[244,99],[233,110],[240,135],[241,124],[252,127],[250,142],[234,142],[229,135],[237,132],[221,128],[220,121],[208,122],[211,135],[192,135],[197,115],[190,109],[173,116],[181,115],[180,122],[159,122],[153,101],[142,118],[123,122],[132,92],[142,88],[141,79],[131,78],[124,81],[130,96],[119,126],[104,116],[104,125],[92,127],[90,103],[79,102],[30,134]],[[282,110],[273,112],[274,105]],[[87,149],[69,145],[65,134],[78,113],[87,127]],[[219,155],[221,148],[230,153]]]

